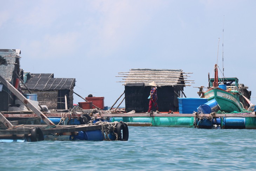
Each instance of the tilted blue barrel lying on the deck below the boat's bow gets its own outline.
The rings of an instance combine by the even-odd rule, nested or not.
[[[198,107],[198,113],[209,114],[211,112],[217,112],[220,110],[220,106],[218,105],[215,99],[210,100],[209,102],[202,104]]]

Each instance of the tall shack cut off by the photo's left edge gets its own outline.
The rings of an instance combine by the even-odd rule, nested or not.
[[[20,54],[18,49],[0,49],[0,75],[15,86],[20,72]],[[14,104],[15,96],[0,82],[0,111],[8,111],[9,104]]]

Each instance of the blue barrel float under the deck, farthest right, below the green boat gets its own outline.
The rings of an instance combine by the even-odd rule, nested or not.
[[[245,118],[243,117],[224,117],[223,127],[225,129],[245,129]]]

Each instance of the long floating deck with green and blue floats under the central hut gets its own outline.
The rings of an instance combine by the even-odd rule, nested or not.
[[[94,117],[108,117],[109,121],[123,121],[128,126],[162,126],[188,128],[256,129],[256,114],[184,114],[184,113],[105,113]]]

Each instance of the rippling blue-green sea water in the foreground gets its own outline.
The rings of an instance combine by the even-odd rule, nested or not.
[[[0,143],[0,170],[255,170],[256,130],[129,126],[128,141]]]

